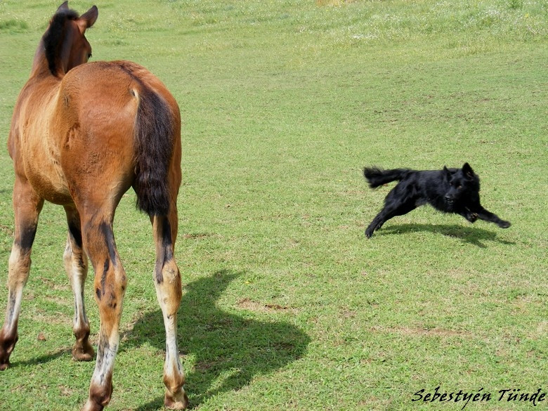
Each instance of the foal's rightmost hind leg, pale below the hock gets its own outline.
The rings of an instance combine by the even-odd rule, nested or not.
[[[166,360],[164,363],[164,404],[172,410],[183,410],[188,398],[183,384],[185,374],[177,347],[177,311],[181,304],[181,273],[175,262],[174,245],[177,237],[177,207],[171,202],[169,216],[153,216],[152,229],[156,242],[154,283],[162,308],[166,329]]]

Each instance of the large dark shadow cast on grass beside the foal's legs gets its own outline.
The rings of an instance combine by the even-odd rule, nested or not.
[[[185,370],[191,408],[218,393],[241,389],[255,374],[278,370],[301,358],[310,342],[287,322],[250,320],[218,308],[216,300],[238,275],[223,270],[185,287],[177,327],[181,352],[196,359],[194,370]],[[126,347],[146,341],[164,351],[162,312],[146,314],[126,338]],[[162,396],[137,410],[157,410],[163,402]]]

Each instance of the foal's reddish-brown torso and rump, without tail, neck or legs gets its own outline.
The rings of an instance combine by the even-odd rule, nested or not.
[[[41,197],[56,204],[74,201],[71,186],[81,178],[100,178],[103,189],[124,193],[135,178],[136,117],[145,93],[161,96],[179,118],[176,100],[164,84],[136,63],[79,65],[53,87],[31,81],[20,96],[24,110],[11,143],[16,148],[10,151],[22,159],[15,164]]]

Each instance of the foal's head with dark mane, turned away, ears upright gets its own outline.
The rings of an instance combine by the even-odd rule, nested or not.
[[[91,57],[91,46],[84,34],[97,20],[97,15],[96,6],[78,15],[68,8],[68,1],[61,4],[34,56],[33,72],[41,67],[44,59],[49,72],[57,77],[63,77],[72,67],[86,63]]]

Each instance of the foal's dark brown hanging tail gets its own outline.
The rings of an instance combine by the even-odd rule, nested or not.
[[[136,118],[137,208],[149,216],[169,211],[169,166],[174,153],[176,118],[166,101],[148,87],[140,90]]]

